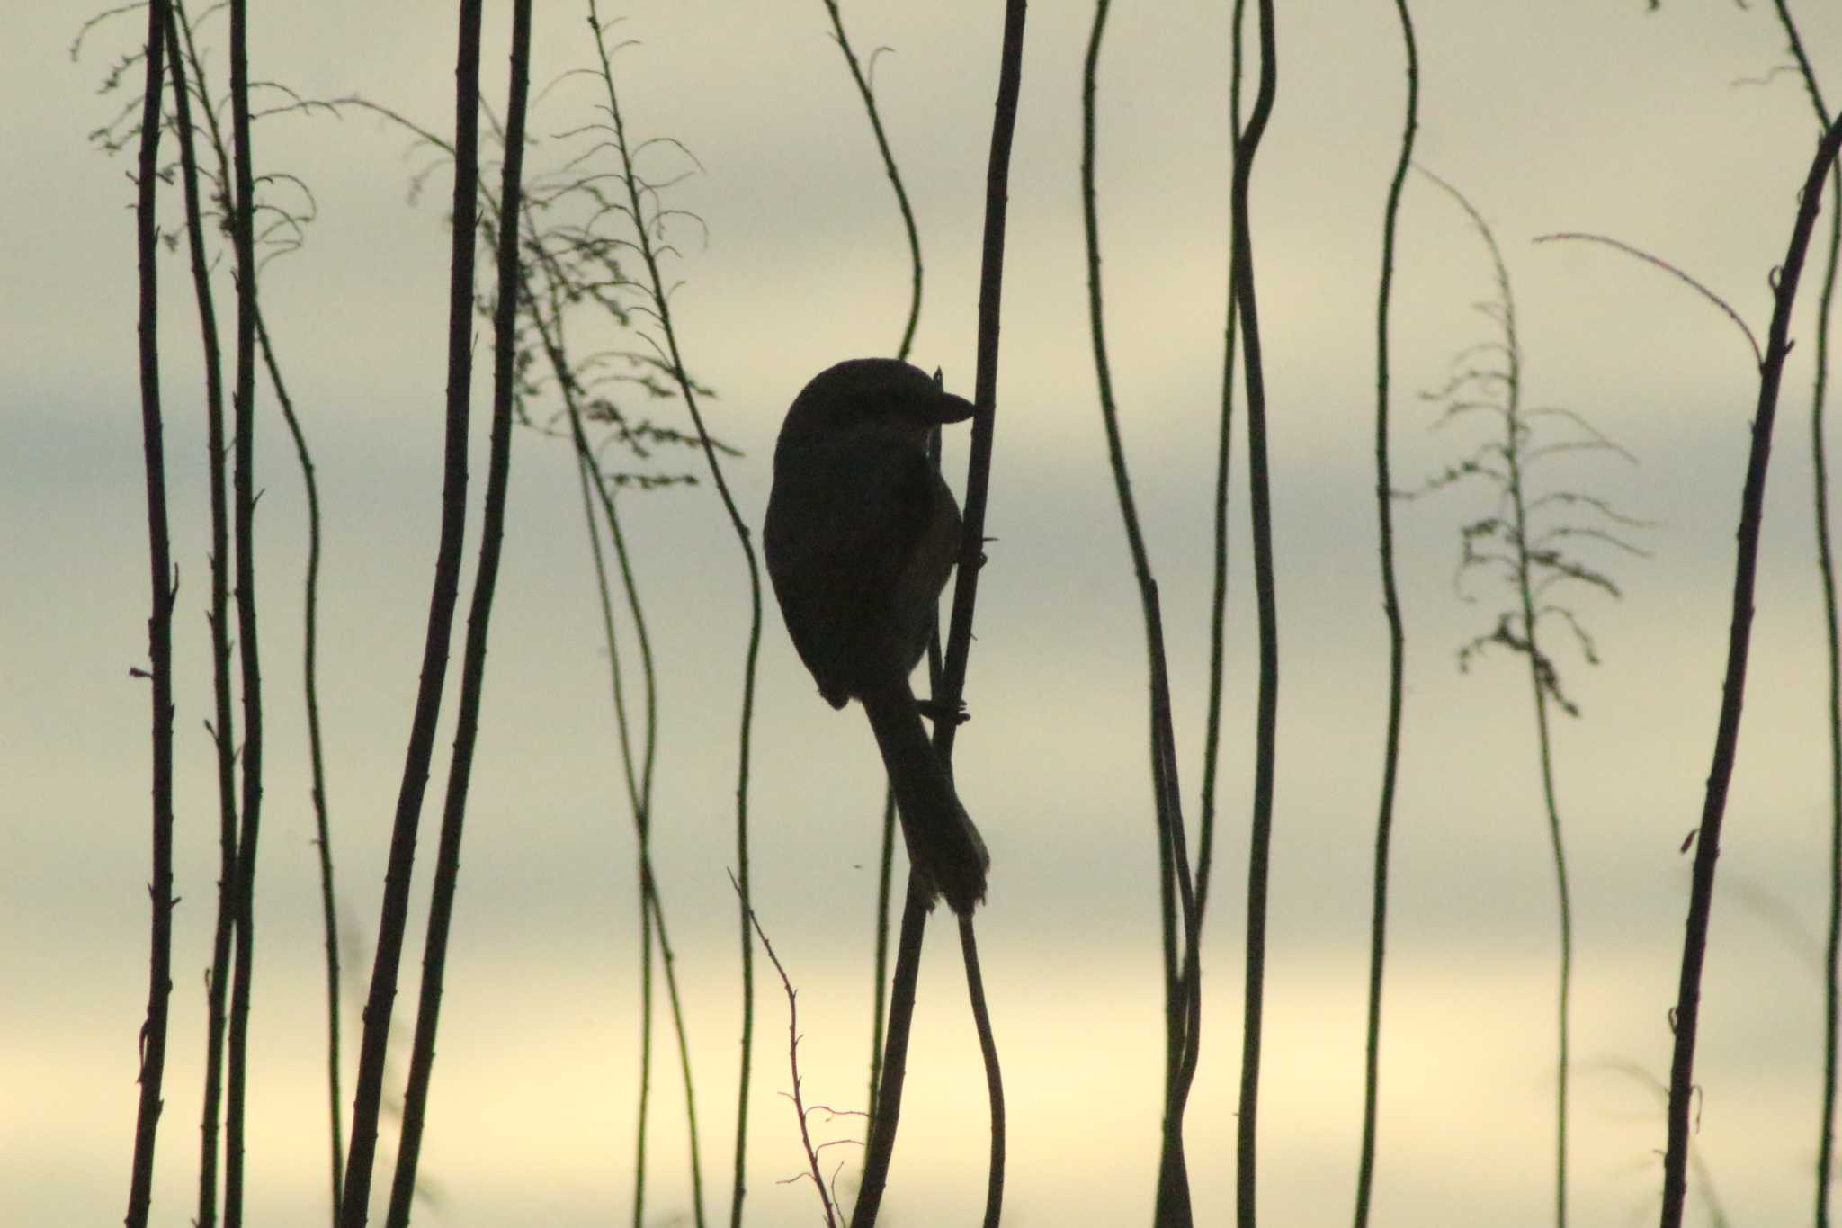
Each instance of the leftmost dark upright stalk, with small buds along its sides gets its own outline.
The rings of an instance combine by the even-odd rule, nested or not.
[[[134,249],[140,269],[140,433],[147,473],[147,683],[153,692],[153,880],[147,922],[147,1014],[140,1025],[140,1097],[134,1110],[134,1160],[129,1169],[127,1228],[146,1228],[153,1206],[153,1151],[166,1077],[166,1016],[173,994],[173,582],[166,530],[166,442],[160,420],[160,79],[166,53],[166,0],[147,4],[147,87],[140,110],[140,164],[134,195]]]

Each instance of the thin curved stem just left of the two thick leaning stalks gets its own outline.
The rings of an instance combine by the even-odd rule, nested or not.
[[[313,771],[313,843],[319,849],[321,862],[321,930],[326,935],[326,1118],[332,1132],[332,1206],[333,1215],[337,1215],[339,1195],[344,1186],[344,1097],[339,1094],[339,908],[333,891],[332,823],[326,816],[326,753],[321,740],[321,488],[313,477],[313,453],[308,451],[308,436],[300,429],[300,416],[295,414],[295,401],[287,396],[287,385],[282,383],[282,366],[274,361],[274,346],[269,341],[269,326],[262,319],[260,300],[256,304],[256,342],[262,346],[262,363],[269,372],[274,400],[282,407],[287,434],[295,442],[295,457],[300,460],[300,481],[308,492],[308,573],[302,584],[302,624],[306,633],[300,650],[300,672],[308,709],[308,762]]]

